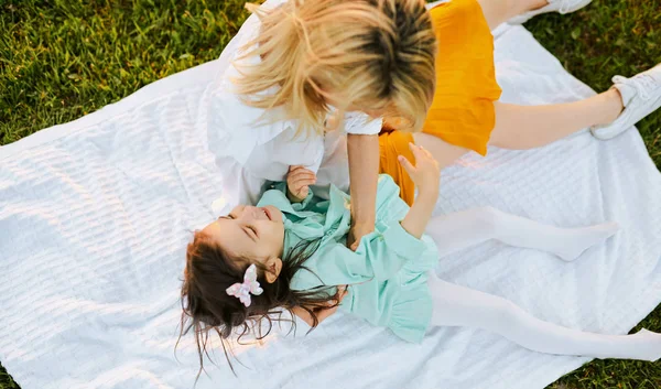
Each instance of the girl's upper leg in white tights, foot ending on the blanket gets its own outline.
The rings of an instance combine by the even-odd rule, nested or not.
[[[573,261],[589,247],[613,236],[617,228],[615,223],[557,228],[492,207],[480,207],[434,217],[425,233],[438,246],[441,257],[496,239],[510,246],[552,252],[565,261]]]

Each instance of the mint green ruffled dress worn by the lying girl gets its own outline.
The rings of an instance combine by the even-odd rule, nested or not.
[[[432,299],[427,271],[438,260],[430,237],[416,239],[400,225],[409,206],[389,175],[379,176],[376,229],[365,236],[356,252],[346,247],[350,228],[350,197],[330,186],[328,199],[312,194],[291,204],[286,185],[267,191],[258,206],[272,205],[284,215],[284,258],[301,240],[321,239],[318,249],[300,270],[291,288],[348,284],[340,309],[377,326],[386,326],[408,342],[420,343],[430,325]],[[312,192],[312,191],[311,191]]]

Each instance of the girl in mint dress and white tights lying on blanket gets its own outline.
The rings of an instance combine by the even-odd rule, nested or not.
[[[240,205],[195,234],[182,288],[182,335],[194,331],[201,359],[209,332],[224,341],[236,329],[247,334],[256,327],[251,324],[282,317],[277,314],[282,307],[315,327],[337,305],[414,343],[431,326],[473,326],[541,353],[661,357],[661,334],[565,328],[502,298],[440,280],[430,271],[440,257],[488,239],[573,261],[613,236],[617,225],[564,229],[494,208],[430,220],[438,196],[438,164],[423,148],[410,148],[415,166],[404,158],[400,163],[419,188],[413,206],[399,197],[389,175],[381,175],[376,230],[356,251],[345,246],[350,197],[333,186],[329,199],[313,196],[307,186],[314,174],[300,166],[290,169],[286,184],[273,185],[257,207]]]

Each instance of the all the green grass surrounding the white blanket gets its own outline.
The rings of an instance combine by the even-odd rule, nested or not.
[[[0,144],[63,123],[218,57],[243,0],[0,0]],[[661,62],[661,0],[595,1],[528,24],[596,90]],[[639,125],[661,165],[661,112]],[[661,309],[642,323],[661,331]],[[0,368],[0,389],[19,388]],[[552,389],[661,388],[661,364],[594,361]]]

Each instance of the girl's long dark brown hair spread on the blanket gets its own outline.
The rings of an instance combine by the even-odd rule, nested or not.
[[[274,322],[289,322],[295,327],[291,309],[302,307],[313,317],[313,326],[318,320],[316,309],[337,305],[335,292],[328,288],[311,291],[296,291],[290,283],[297,271],[310,271],[304,262],[315,252],[318,241],[302,241],[282,259],[282,269],[273,283],[264,278],[267,269],[258,266],[258,281],[263,289],[260,295],[251,295],[250,306],[245,306],[239,299],[227,294],[226,289],[231,284],[243,281],[243,274],[250,261],[243,261],[245,267],[236,267],[236,258],[231,258],[214,240],[202,231],[196,231],[193,241],[186,250],[186,268],[182,285],[182,336],[192,332],[195,336],[199,370],[197,378],[204,371],[204,357],[210,360],[208,354],[209,334],[217,334],[223,344],[223,352],[234,372],[230,360],[231,347],[228,339],[235,335],[240,343],[247,335],[253,335],[257,341],[268,336]],[[335,301],[335,304],[328,302]],[[284,315],[289,311],[290,315]],[[177,341],[177,345],[178,345]],[[175,346],[176,348],[176,346]]]

